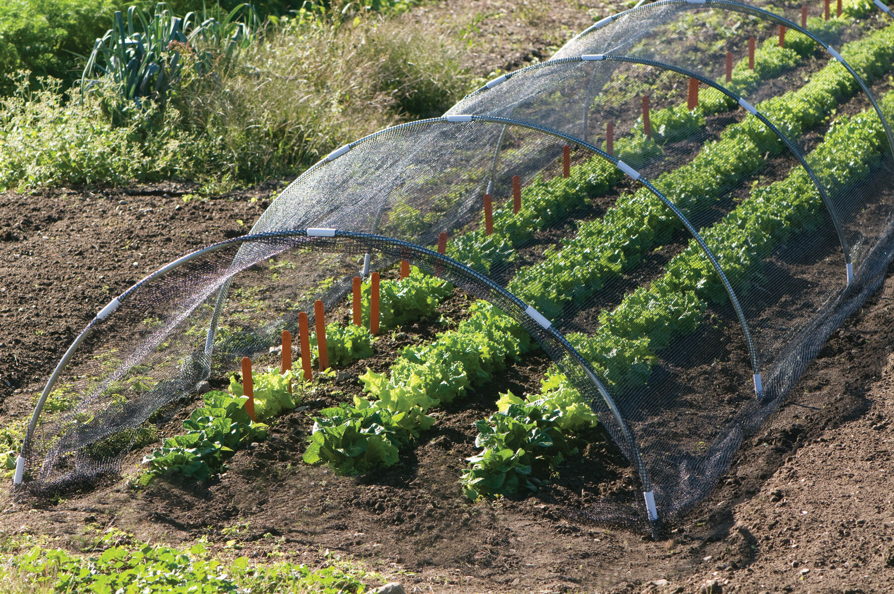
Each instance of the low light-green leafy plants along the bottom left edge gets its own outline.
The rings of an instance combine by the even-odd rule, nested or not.
[[[366,590],[363,581],[377,577],[361,567],[332,559],[326,559],[316,568],[291,563],[249,564],[244,556],[221,560],[210,555],[201,542],[181,550],[142,543],[120,530],[108,531],[97,545],[101,549],[98,554],[78,556],[63,549],[42,547],[29,539],[21,539],[21,544],[7,540],[4,549],[11,553],[3,555],[0,576],[21,580],[21,591],[50,588],[71,594],[343,594],[363,592]]]

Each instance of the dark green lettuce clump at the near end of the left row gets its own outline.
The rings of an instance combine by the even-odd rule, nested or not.
[[[183,421],[186,433],[164,440],[161,448],[143,457],[150,476],[180,474],[205,480],[223,469],[223,462],[243,443],[266,438],[267,426],[245,412],[245,397],[211,391],[205,406]]]

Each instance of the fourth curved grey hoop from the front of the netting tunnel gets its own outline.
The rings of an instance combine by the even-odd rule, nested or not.
[[[665,5],[673,5],[673,4],[688,5],[688,6],[691,6],[692,8],[718,6],[718,7],[725,8],[727,10],[730,10],[730,11],[733,11],[736,13],[751,14],[753,16],[762,17],[762,18],[766,19],[767,21],[775,22],[776,24],[779,24],[779,25],[785,25],[786,28],[791,29],[791,30],[796,30],[799,33],[802,33],[803,35],[807,36],[808,38],[813,39],[814,42],[817,45],[819,45],[820,47],[824,48],[826,50],[826,52],[829,55],[831,55],[831,57],[834,60],[836,60],[837,62],[839,62],[839,64],[844,66],[848,70],[848,72],[850,72],[850,75],[854,77],[854,80],[857,82],[857,84],[860,85],[860,88],[863,89],[863,92],[866,94],[866,97],[869,98],[870,103],[873,104],[873,109],[875,109],[875,113],[878,114],[879,118],[881,119],[881,125],[884,127],[885,134],[888,136],[888,144],[891,149],[891,154],[894,155],[894,134],[891,133],[888,119],[881,112],[881,107],[879,106],[878,102],[876,102],[875,97],[873,96],[872,92],[870,92],[869,88],[866,86],[866,83],[864,82],[864,80],[862,78],[860,78],[860,76],[851,67],[851,65],[848,64],[847,60],[842,58],[841,55],[839,55],[839,53],[836,52],[831,46],[827,45],[824,41],[822,41],[822,39],[816,37],[809,30],[804,29],[796,22],[789,21],[788,19],[786,19],[783,16],[780,16],[779,14],[771,13],[770,11],[763,10],[763,8],[758,8],[757,6],[752,6],[750,4],[742,4],[740,2],[735,2],[734,0],[658,0],[657,2],[654,2],[652,4],[637,5],[633,8],[623,11],[621,13],[607,16],[602,21],[598,21],[594,25],[587,28],[586,30],[581,31],[578,35],[571,38],[571,40],[565,45],[567,46],[567,45],[573,43],[574,41],[585,37],[588,33],[591,33],[595,30],[600,30],[603,27],[605,27],[606,25],[610,25],[612,22],[617,21],[618,19],[620,19],[621,17],[623,17],[625,15],[637,13],[637,12],[654,10],[654,8],[656,6],[665,6]],[[875,4],[877,6],[879,6],[878,2],[876,2]],[[879,7],[881,8],[881,6],[879,6]],[[894,16],[894,13],[892,13],[890,11],[890,9],[887,12],[891,16]]]

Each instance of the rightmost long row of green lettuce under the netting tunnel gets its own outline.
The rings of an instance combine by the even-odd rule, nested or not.
[[[881,105],[886,117],[894,118],[894,92]],[[878,115],[867,110],[854,117],[841,116],[808,162],[827,190],[838,191],[868,177],[887,149],[888,138]],[[759,274],[763,259],[792,236],[814,233],[824,216],[814,183],[797,168],[784,180],[755,188],[750,199],[704,233],[704,240],[743,293]],[[693,240],[671,260],[664,276],[628,294],[615,310],[603,311],[595,335],[575,333],[568,336],[569,342],[610,386],[641,384],[651,375],[657,352],[671,337],[692,333],[708,304],[720,304],[726,298],[719,276]],[[629,368],[612,361],[619,355],[617,345],[624,341],[635,343],[637,349],[637,362]],[[629,357],[629,353],[620,354]],[[540,474],[555,469],[569,449],[564,438],[555,437],[562,409],[554,401],[579,402],[579,396],[569,396],[575,392],[561,372],[551,369],[543,394],[529,396],[528,402],[504,395],[500,412],[477,422],[476,446],[482,451],[468,459],[468,471],[460,479],[467,495],[535,488],[530,482],[532,472],[536,474],[535,463],[541,467]]]

